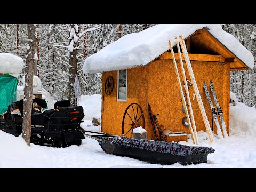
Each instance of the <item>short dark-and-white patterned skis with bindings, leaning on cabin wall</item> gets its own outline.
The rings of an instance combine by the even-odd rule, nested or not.
[[[223,138],[222,131],[221,131],[220,124],[219,124],[219,120],[218,120],[218,117],[217,117],[217,113],[218,113],[218,115],[219,115],[219,117],[220,117],[220,123],[221,123],[221,127],[222,127],[222,130],[223,130],[224,138],[227,138],[227,137],[228,137],[228,134],[227,134],[227,130],[226,130],[226,124],[225,124],[224,119],[223,119],[223,111],[221,110],[219,101],[218,101],[218,99],[217,99],[217,95],[216,95],[216,93],[215,93],[212,80],[211,80],[211,82],[210,82],[210,89],[211,89],[211,92],[212,92],[213,99],[214,99],[215,105],[216,105],[216,107],[217,107],[217,110],[216,110],[216,108],[213,106],[213,103],[212,103],[212,100],[211,100],[209,91],[208,91],[208,89],[207,89],[206,82],[204,82],[203,87],[204,87],[204,92],[205,92],[205,94],[206,94],[207,100],[208,100],[209,105],[210,105],[211,110],[212,110],[213,119],[214,119],[215,125],[216,125],[216,127],[217,127],[217,134],[218,134],[218,136],[219,136],[220,138]]]

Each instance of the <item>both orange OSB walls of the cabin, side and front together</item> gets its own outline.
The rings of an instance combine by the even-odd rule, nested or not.
[[[190,80],[185,61],[183,61],[183,63],[185,65],[187,79]],[[177,61],[177,64],[180,66],[179,61]],[[206,81],[210,91],[209,84],[212,79],[220,106],[223,110],[227,131],[229,131],[229,64],[191,61],[191,65],[210,125],[212,123],[212,113],[203,90],[203,82]],[[180,67],[179,71],[183,83]],[[114,77],[115,85],[110,95],[106,95],[105,92],[102,91],[103,132],[122,135],[122,120],[125,109],[131,103],[139,103],[145,115],[147,139],[154,139],[154,133],[147,110],[147,102],[149,102],[153,113],[160,113],[157,118],[162,129],[190,133],[189,128],[182,125],[182,118],[186,115],[181,110],[181,96],[172,60],[156,60],[150,62],[145,67],[128,69],[127,102],[117,102],[117,71],[102,74],[102,87],[104,87],[105,81],[110,75]],[[196,129],[197,131],[206,131],[198,102],[196,98],[193,100],[193,87],[190,87],[189,93],[195,116]],[[214,132],[216,133],[215,124]]]

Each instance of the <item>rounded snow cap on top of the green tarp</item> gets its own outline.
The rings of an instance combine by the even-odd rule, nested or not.
[[[9,73],[18,78],[23,65],[22,58],[11,53],[0,53],[0,73]]]

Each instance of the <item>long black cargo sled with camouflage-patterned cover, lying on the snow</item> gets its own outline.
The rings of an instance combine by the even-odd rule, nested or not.
[[[97,140],[105,153],[162,165],[170,165],[177,162],[181,165],[206,163],[208,154],[215,151],[212,147],[186,146],[175,142],[133,139],[107,133],[98,134],[102,135],[91,135],[89,137]]]

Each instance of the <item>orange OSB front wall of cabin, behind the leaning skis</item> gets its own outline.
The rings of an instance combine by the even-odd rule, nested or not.
[[[187,79],[190,80],[185,61],[183,61],[183,63],[185,65]],[[177,61],[177,65],[183,84],[183,76],[181,73],[179,61]],[[205,111],[210,121],[210,125],[212,123],[212,113],[203,90],[203,82],[206,81],[206,84],[210,91],[209,84],[210,80],[212,79],[220,106],[224,111],[223,116],[226,125],[227,127],[229,127],[229,114],[227,112],[229,111],[229,65],[223,65],[220,62],[204,61],[191,61],[191,65],[193,67],[197,86],[201,94],[201,98],[204,103]],[[153,113],[160,113],[157,118],[159,124],[162,125],[162,129],[167,129],[171,131],[185,131],[186,133],[190,133],[189,128],[182,125],[182,118],[186,115],[182,112],[182,102],[180,102],[181,95],[179,90],[179,84],[175,75],[172,60],[156,60],[149,63],[148,67],[148,101],[151,104]],[[183,90],[185,90],[185,88]],[[193,93],[195,92],[192,86],[189,89],[189,94],[193,107],[196,129],[197,131],[206,131],[201,111],[198,106],[198,102],[196,98],[193,100]],[[149,124],[147,125],[149,126]],[[215,125],[214,131],[216,133]]]

